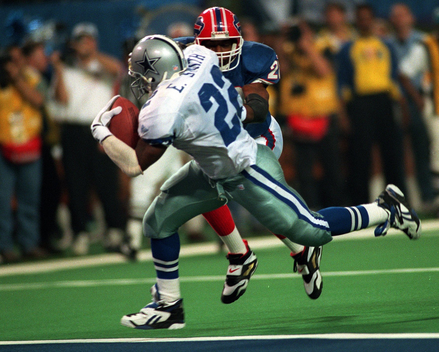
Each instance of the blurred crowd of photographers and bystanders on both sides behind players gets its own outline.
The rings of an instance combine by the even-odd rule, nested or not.
[[[324,25],[290,18],[270,32],[241,18],[244,40],[269,45],[279,58],[281,80],[268,90],[283,128],[288,183],[315,210],[367,203],[394,183],[418,211],[437,216],[439,21],[422,32],[402,3],[388,18],[358,5],[353,23],[342,4],[328,3],[323,17]],[[168,35],[192,33],[177,23]],[[137,39],[121,43],[119,60],[99,50],[96,25],[78,23],[63,52],[49,54],[46,43],[29,38],[2,49],[3,262],[84,255],[94,241],[130,258],[140,248],[144,211],[187,156],[169,148],[162,164],[129,180],[90,133],[115,94],[140,105],[127,76]],[[203,221],[187,224],[190,241],[204,239]]]

